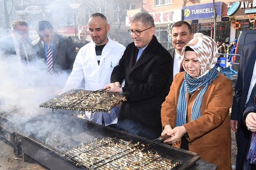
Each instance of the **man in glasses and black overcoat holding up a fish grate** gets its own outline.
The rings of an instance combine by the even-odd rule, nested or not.
[[[134,43],[127,46],[111,74],[111,91],[129,93],[115,128],[146,138],[161,134],[161,104],[170,91],[172,58],[154,36],[153,17],[145,12],[135,14],[128,30]],[[125,80],[125,86],[120,84]],[[132,122],[129,126],[125,122]],[[134,132],[136,131],[136,132]]]

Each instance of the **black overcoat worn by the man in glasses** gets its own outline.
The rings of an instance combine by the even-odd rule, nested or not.
[[[129,92],[118,123],[132,120],[140,125],[137,135],[154,138],[161,134],[161,104],[170,91],[172,58],[155,36],[136,62],[137,55],[138,48],[129,44],[111,74],[111,83],[125,79],[123,91]]]

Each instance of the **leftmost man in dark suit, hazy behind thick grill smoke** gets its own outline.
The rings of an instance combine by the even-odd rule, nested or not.
[[[29,66],[34,57],[34,47],[29,39],[28,23],[24,20],[12,22],[12,35],[0,41],[1,52],[5,57],[17,62],[19,68]]]

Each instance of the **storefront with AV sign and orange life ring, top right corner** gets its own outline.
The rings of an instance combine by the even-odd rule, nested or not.
[[[256,0],[230,1],[226,4],[230,22],[230,39],[238,38],[241,30],[256,29]]]

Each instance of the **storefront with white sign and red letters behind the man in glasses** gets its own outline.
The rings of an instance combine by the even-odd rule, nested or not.
[[[166,25],[171,22],[180,21],[182,19],[182,10],[162,11],[149,14],[153,16],[155,21],[155,36],[157,40],[163,47],[169,49],[170,43],[168,41]],[[126,27],[130,27],[131,17],[132,16],[126,17]]]

